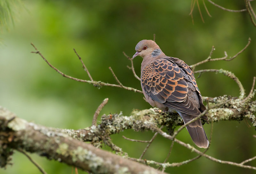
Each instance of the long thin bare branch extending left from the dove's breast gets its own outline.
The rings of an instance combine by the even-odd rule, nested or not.
[[[40,51],[37,50],[37,48],[35,47],[35,45],[33,43],[31,43],[31,45],[35,48],[36,52],[31,52],[31,53],[35,53],[35,54],[39,54],[43,59],[44,61],[52,68],[54,69],[55,71],[57,71],[61,76],[63,77],[66,77],[66,78],[70,78],[72,80],[75,80],[75,81],[78,81],[78,82],[84,82],[84,83],[89,83],[89,84],[93,84],[97,87],[101,87],[101,86],[112,86],[112,87],[118,87],[118,88],[123,88],[125,90],[128,90],[128,91],[134,91],[134,92],[139,92],[141,94],[143,94],[142,91],[140,90],[137,90],[135,88],[132,88],[132,87],[126,87],[126,86],[121,86],[121,85],[117,85],[117,84],[110,84],[110,83],[104,83],[104,82],[101,82],[101,81],[90,81],[90,80],[82,80],[82,79],[78,79],[78,78],[75,78],[75,77],[72,77],[72,76],[68,76],[64,73],[62,73],[59,69],[55,68],[54,66],[52,66],[52,64],[50,64],[45,58],[44,56],[40,53]]]

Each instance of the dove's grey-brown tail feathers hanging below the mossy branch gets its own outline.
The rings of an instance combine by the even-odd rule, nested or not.
[[[187,123],[188,121],[196,117],[194,115],[188,115],[180,112],[179,114],[183,119],[184,123]],[[209,146],[209,140],[205,134],[203,125],[200,120],[196,120],[190,123],[188,126],[186,126],[186,128],[196,146],[198,146],[199,148],[207,148]]]

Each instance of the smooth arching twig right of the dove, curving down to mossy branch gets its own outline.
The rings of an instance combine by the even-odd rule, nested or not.
[[[196,74],[196,73],[203,73],[203,72],[218,72],[218,73],[222,73],[223,75],[232,78],[237,83],[237,85],[240,89],[239,98],[244,98],[244,95],[245,95],[244,87],[243,87],[242,83],[239,81],[239,79],[232,72],[224,70],[224,69],[203,69],[203,70],[195,71],[194,73]]]

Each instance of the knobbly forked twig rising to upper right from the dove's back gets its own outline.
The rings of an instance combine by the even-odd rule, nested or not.
[[[212,50],[211,50],[211,52],[210,52],[209,57],[207,57],[207,59],[205,59],[205,60],[203,60],[203,61],[201,61],[201,62],[198,62],[198,63],[196,63],[196,64],[194,64],[194,65],[190,65],[190,67],[192,67],[193,70],[194,70],[196,66],[201,65],[201,64],[203,64],[203,63],[205,63],[205,62],[220,61],[220,60],[231,61],[231,60],[235,59],[239,54],[241,54],[242,52],[244,52],[244,50],[250,45],[250,43],[251,43],[251,38],[248,39],[248,43],[246,44],[246,46],[245,46],[241,51],[239,51],[238,53],[236,53],[236,55],[234,55],[233,57],[231,57],[231,58],[229,58],[229,59],[228,59],[228,54],[226,53],[226,51],[224,52],[224,54],[225,54],[224,57],[212,59],[212,58],[211,58],[211,57],[212,57],[212,52],[215,50],[214,46],[212,46]]]

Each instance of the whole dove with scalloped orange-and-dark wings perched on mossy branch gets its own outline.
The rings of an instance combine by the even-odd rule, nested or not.
[[[153,40],[141,40],[132,56],[143,58],[140,83],[147,102],[161,110],[177,112],[184,123],[197,117],[206,108],[192,69],[182,60],[166,56]],[[202,116],[204,120],[207,117]],[[207,148],[209,140],[198,119],[186,126],[199,148]]]

